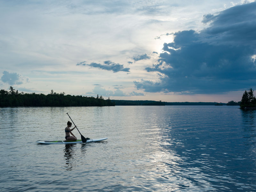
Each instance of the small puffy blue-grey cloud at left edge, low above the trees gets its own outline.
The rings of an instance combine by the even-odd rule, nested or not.
[[[1,77],[1,80],[9,85],[23,84],[28,82],[28,78],[23,77],[18,73],[9,73],[8,71],[4,71],[3,74],[4,75]]]

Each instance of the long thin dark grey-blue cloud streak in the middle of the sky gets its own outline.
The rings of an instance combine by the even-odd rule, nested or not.
[[[94,63],[94,62],[92,62],[91,64],[85,64],[84,62],[81,62],[81,63],[83,63],[83,65],[100,68],[100,69],[104,69],[104,70],[108,70],[108,71],[113,71],[114,73],[119,72],[119,71],[130,72],[130,68],[124,68],[124,65],[121,65],[119,63],[114,63],[109,60],[104,61],[104,64]]]

